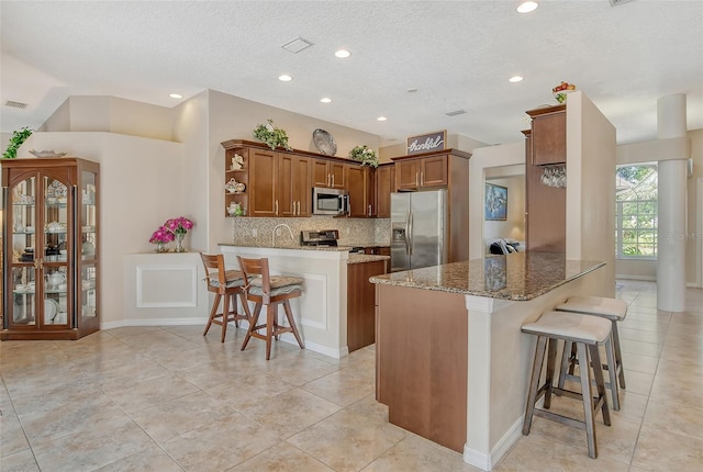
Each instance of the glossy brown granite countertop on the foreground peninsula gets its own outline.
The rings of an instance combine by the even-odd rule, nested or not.
[[[526,301],[603,266],[603,261],[567,260],[563,254],[517,252],[393,272],[369,280],[388,285]]]

